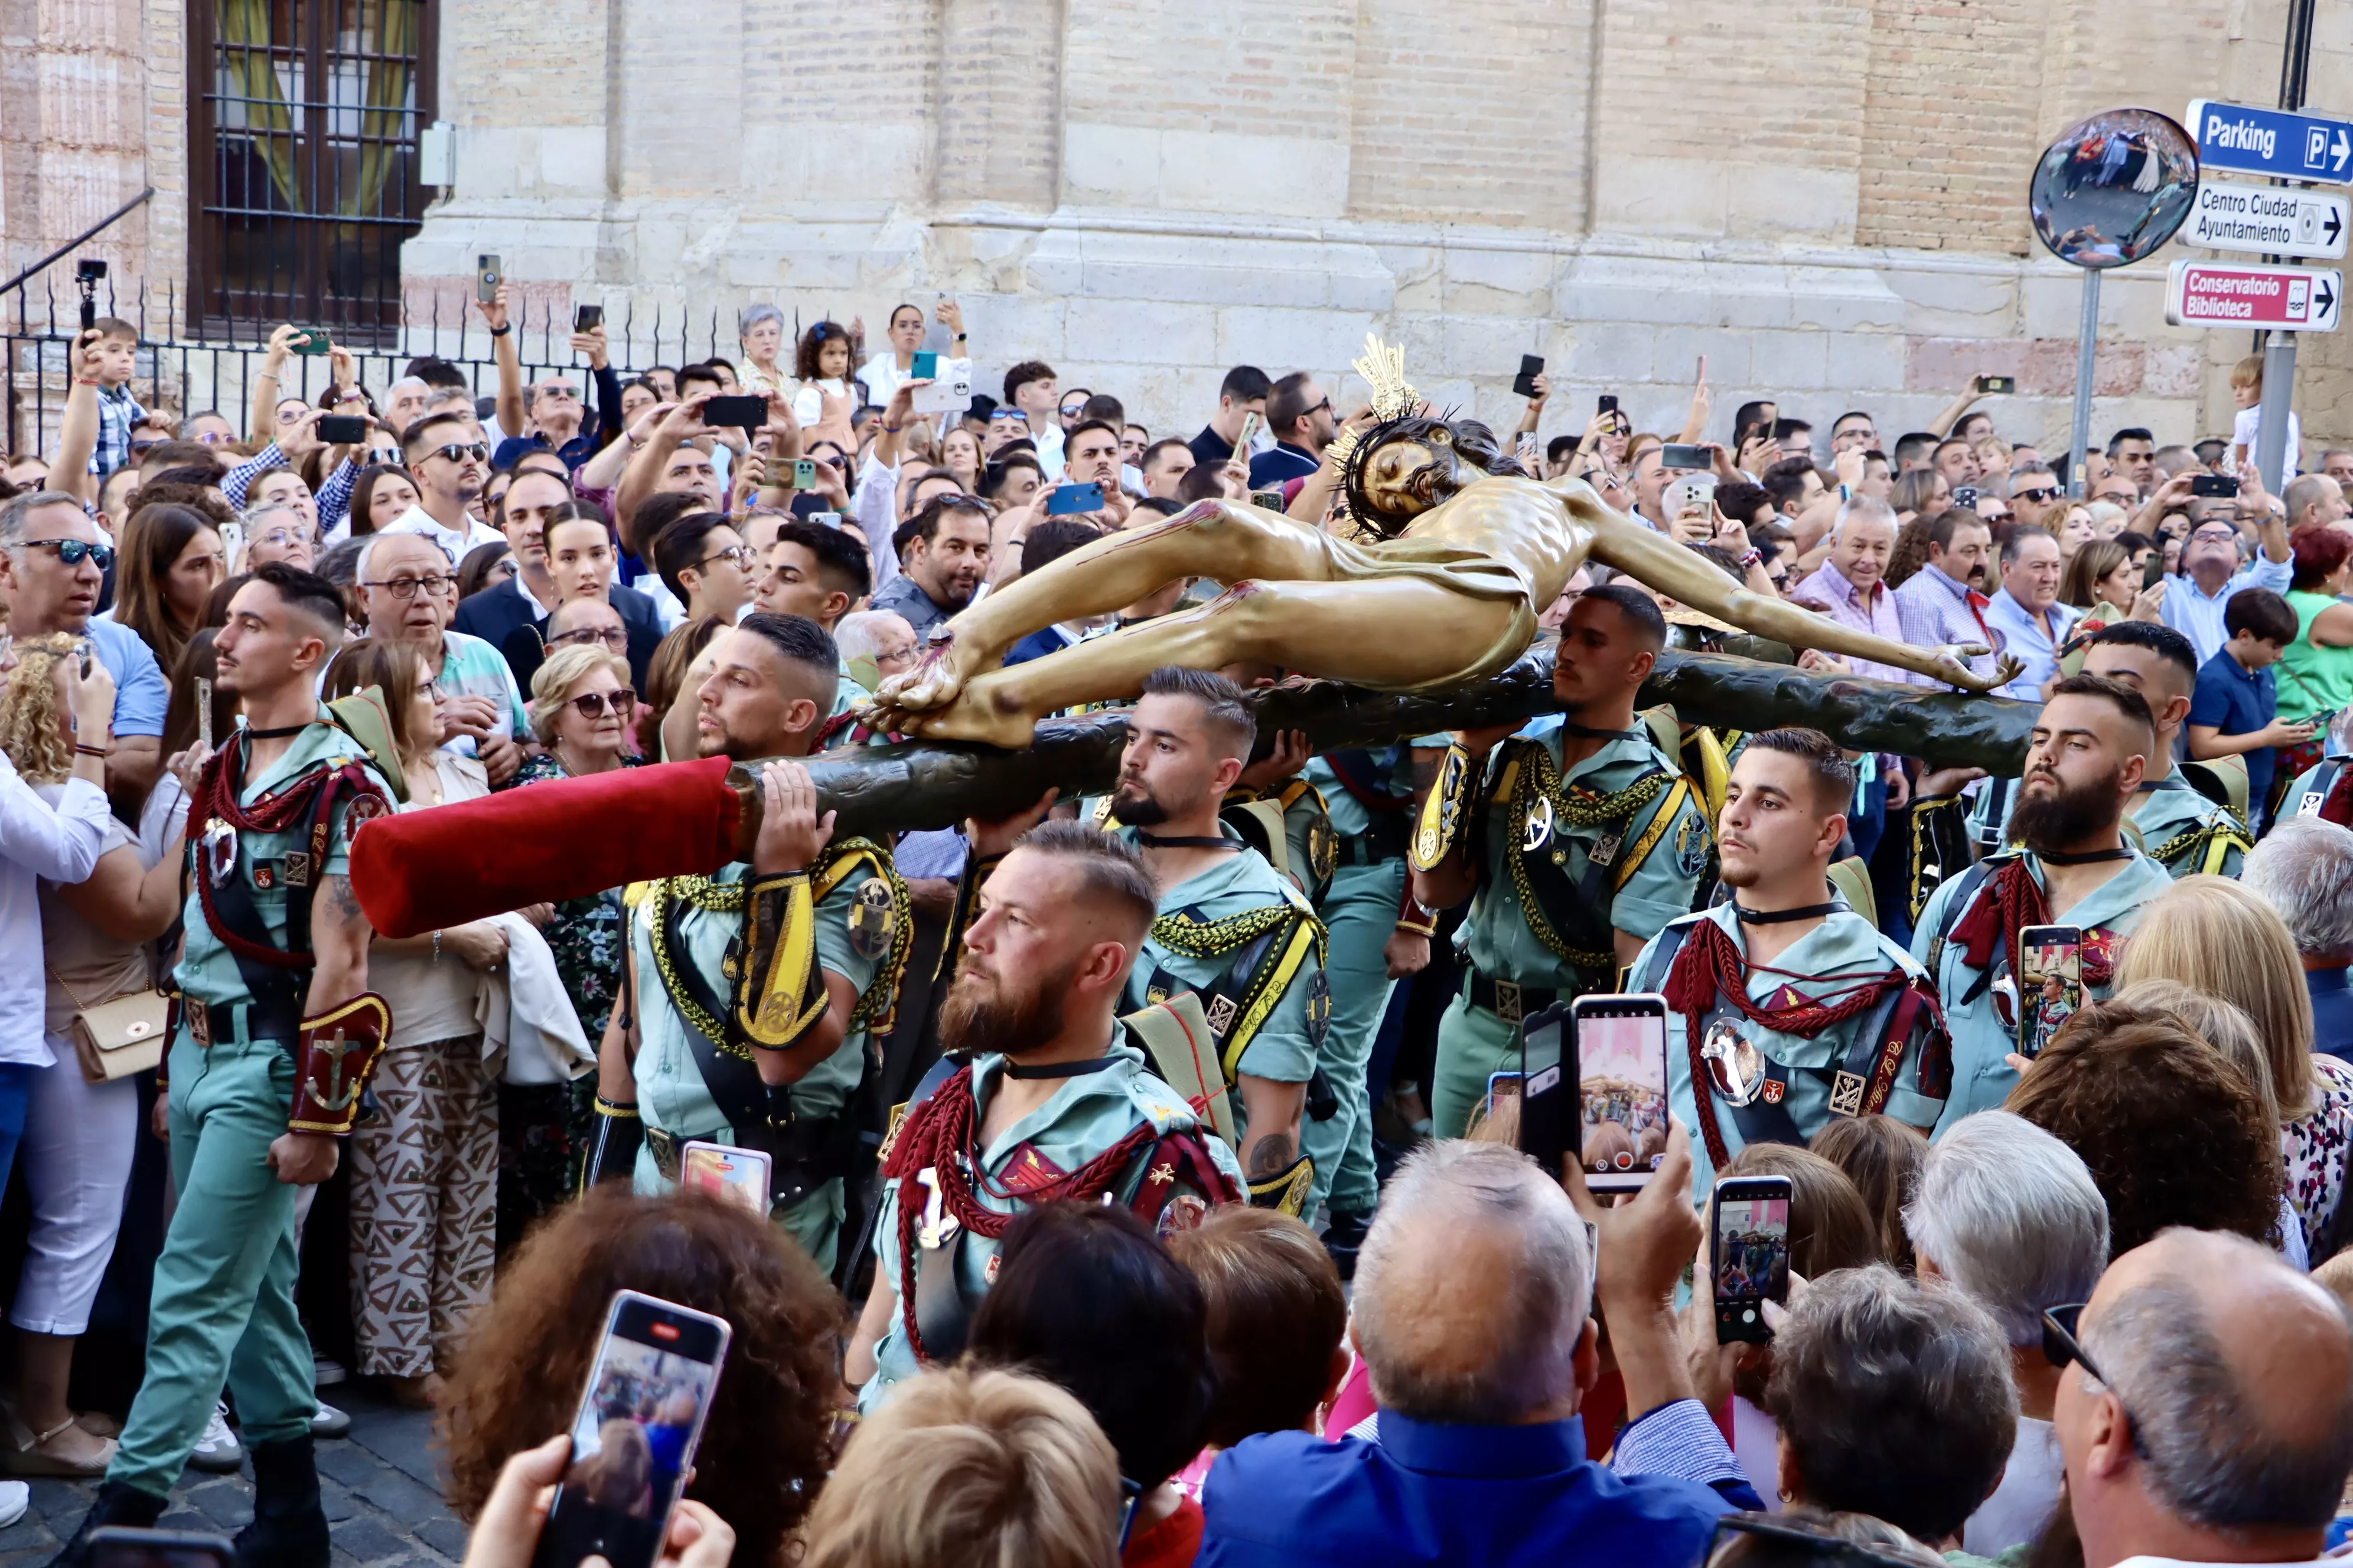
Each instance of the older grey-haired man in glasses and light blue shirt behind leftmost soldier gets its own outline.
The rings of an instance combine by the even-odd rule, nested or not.
[[[367,635],[416,649],[433,670],[442,745],[482,759],[492,788],[522,766],[515,736],[529,731],[522,689],[499,649],[449,630],[456,567],[428,536],[376,534],[360,548],[360,602]]]

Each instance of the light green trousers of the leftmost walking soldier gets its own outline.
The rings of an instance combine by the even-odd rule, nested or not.
[[[224,1009],[226,1011],[226,1009]],[[226,1382],[247,1443],[311,1432],[311,1338],[294,1312],[294,1197],[268,1152],[287,1131],[294,1058],[275,1039],[172,1046],[172,1185],[155,1260],[146,1380],[106,1467],[169,1495]]]

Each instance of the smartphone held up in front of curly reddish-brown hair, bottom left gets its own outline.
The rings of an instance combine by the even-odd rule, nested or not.
[[[727,1321],[619,1291],[532,1568],[654,1568],[727,1359]]]

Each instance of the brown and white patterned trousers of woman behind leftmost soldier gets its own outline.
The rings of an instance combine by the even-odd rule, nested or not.
[[[374,1093],[351,1135],[351,1328],[362,1375],[424,1378],[489,1300],[499,1095],[480,1034],[386,1051]]]

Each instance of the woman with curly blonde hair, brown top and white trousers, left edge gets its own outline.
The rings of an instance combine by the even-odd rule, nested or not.
[[[61,809],[78,762],[66,693],[73,637],[26,639],[16,658],[0,696],[0,743],[19,778]],[[33,1070],[24,1117],[33,1229],[9,1307],[19,1359],[5,1448],[7,1472],[16,1476],[96,1476],[115,1455],[113,1439],[78,1422],[66,1382],[73,1342],[89,1328],[89,1305],[122,1222],[122,1192],[139,1147],[139,1081],[125,1074],[89,1084],[71,1030],[80,1009],[155,990],[146,943],[179,914],[179,837],[151,860],[113,816],[104,830],[87,879],[40,884],[35,961],[47,978],[40,1044],[54,1060]],[[12,945],[12,952],[21,950]]]

